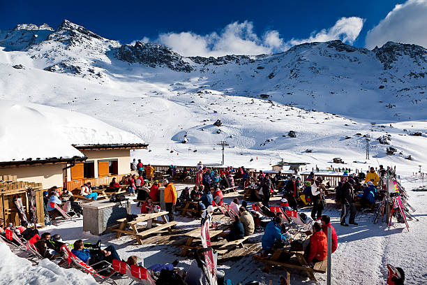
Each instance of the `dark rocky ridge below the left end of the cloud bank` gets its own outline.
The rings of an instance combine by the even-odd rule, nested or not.
[[[184,60],[184,57],[164,45],[137,41],[135,45],[119,47],[116,57],[130,63],[139,63],[151,67],[167,66],[173,71],[190,72],[193,70],[190,64]]]

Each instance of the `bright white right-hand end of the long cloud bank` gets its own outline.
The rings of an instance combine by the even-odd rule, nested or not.
[[[317,34],[311,34],[309,38],[294,39],[289,41],[290,45],[299,45],[301,43],[313,43],[313,42],[324,42],[333,41],[340,39],[343,42],[352,44],[360,31],[364,27],[364,19],[360,17],[342,17],[336,21],[334,27],[329,29],[322,29]]]

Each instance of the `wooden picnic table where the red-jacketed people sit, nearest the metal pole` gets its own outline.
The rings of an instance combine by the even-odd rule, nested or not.
[[[301,238],[301,233],[298,232],[294,236],[294,238],[297,238],[297,239]],[[308,237],[306,237],[305,240],[307,238]],[[314,272],[325,273],[327,270],[327,258],[324,258],[323,261],[315,263],[313,268],[310,268],[310,266],[306,261],[306,258],[304,258],[304,251],[291,251],[290,245],[287,245],[287,247],[283,247],[280,249],[272,249],[272,250],[273,250],[273,254],[269,258],[258,256],[257,254],[253,255],[253,259],[255,259],[256,261],[267,263],[264,267],[264,270],[262,270],[263,272],[268,273],[273,267],[273,265],[280,265],[285,268],[294,268],[294,269],[304,270],[308,273],[308,277],[311,280],[314,280],[317,282],[314,276]],[[291,263],[290,261],[289,262],[279,261],[281,254],[290,254],[290,258],[292,258],[292,256],[295,256],[295,258],[297,259],[297,263]]]

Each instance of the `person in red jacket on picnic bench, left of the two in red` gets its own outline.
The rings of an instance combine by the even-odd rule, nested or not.
[[[327,257],[328,240],[322,231],[322,226],[318,223],[313,224],[313,235],[310,236],[310,243],[304,250],[304,258],[310,267],[315,263],[323,261]]]

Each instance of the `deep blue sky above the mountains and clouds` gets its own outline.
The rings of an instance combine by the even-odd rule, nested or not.
[[[292,38],[307,39],[322,29],[328,31],[342,17],[357,17],[363,20],[363,27],[354,41],[347,42],[364,47],[367,32],[384,19],[397,3],[405,1],[0,0],[0,10],[6,11],[1,13],[0,29],[10,29],[20,23],[44,22],[56,28],[63,19],[68,19],[121,43],[149,38],[151,41],[174,45],[172,39],[162,40],[159,35],[189,31],[193,36],[213,35],[215,39],[204,38],[208,47],[211,47],[221,37],[227,25],[234,22],[246,21],[250,24],[250,30],[246,26],[240,27],[248,38],[253,33],[262,41],[265,33],[276,31],[280,39],[287,43]],[[218,38],[212,33],[218,35]],[[182,41],[182,38],[179,40]]]

